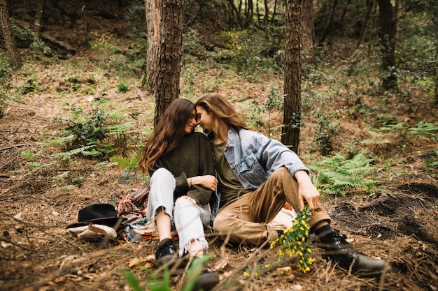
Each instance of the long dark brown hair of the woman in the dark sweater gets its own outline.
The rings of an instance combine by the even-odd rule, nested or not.
[[[146,147],[141,152],[139,171],[142,174],[147,174],[150,165],[153,165],[161,156],[173,151],[183,140],[185,125],[192,117],[194,109],[195,104],[180,98],[172,101],[167,107]]]

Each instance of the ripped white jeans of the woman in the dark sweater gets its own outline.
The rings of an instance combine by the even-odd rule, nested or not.
[[[175,225],[179,237],[179,255],[188,253],[193,240],[198,240],[204,246],[204,251],[209,248],[205,239],[204,225],[210,222],[211,213],[209,205],[200,207],[189,200],[180,199],[174,203],[175,191],[174,175],[164,168],[160,168],[150,177],[150,190],[146,215],[149,221],[155,223],[157,209],[164,207]]]

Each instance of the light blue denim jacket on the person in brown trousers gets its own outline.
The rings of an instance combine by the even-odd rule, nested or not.
[[[309,168],[294,151],[261,133],[231,126],[227,142],[225,158],[245,188],[255,190],[267,181],[272,172],[283,166],[289,170],[292,177],[298,170],[305,170],[310,175]],[[220,193],[218,197],[220,199]],[[216,209],[217,206],[214,210]]]

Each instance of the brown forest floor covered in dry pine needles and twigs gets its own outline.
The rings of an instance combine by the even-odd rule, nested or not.
[[[118,117],[120,123],[144,129],[136,136],[144,139],[152,127],[153,99],[136,89],[120,93],[117,74],[111,71],[105,75],[108,71],[92,66],[90,54],[84,50],[70,60],[27,63],[10,79],[10,94],[20,95],[17,92],[32,77],[38,80],[39,89],[8,103],[0,119],[0,290],[130,290],[124,269],[132,271],[141,285],[160,277],[160,271],[153,267],[156,239],[139,243],[120,239],[104,245],[66,233],[66,226],[77,222],[79,209],[100,202],[117,204],[142,183],[135,170],[99,167],[93,158],[72,157],[63,162],[54,156],[59,146],[47,141],[74,122],[66,118],[71,108],[80,107],[85,112],[105,99],[107,110],[123,112]],[[220,79],[227,73],[212,68],[206,74],[203,80]],[[81,88],[90,86],[87,80],[94,76],[93,93],[67,90],[66,80],[73,76]],[[129,87],[135,88],[139,80],[129,82]],[[217,91],[233,96],[236,107],[243,108],[243,103],[251,100],[261,103],[270,82],[270,77],[257,83],[229,80]],[[193,100],[204,93],[194,92]],[[411,105],[400,106],[397,120],[411,124],[438,121],[437,105],[423,94],[412,98]],[[367,96],[363,100],[376,102]],[[397,100],[388,104],[391,102]],[[412,104],[415,110],[408,109]],[[341,110],[344,105],[344,101],[334,102],[332,110]],[[280,117],[271,118],[273,124],[281,121]],[[363,138],[364,119],[348,114],[339,119],[335,143],[342,144],[342,136]],[[303,128],[303,154],[311,137],[309,126]],[[388,262],[392,272],[382,278],[359,278],[323,260],[318,248],[306,274],[293,262],[264,267],[276,260],[276,249],[222,245],[209,237],[209,253],[213,254],[209,266],[221,278],[215,290],[437,291],[438,171],[425,162],[428,157],[436,158],[437,137],[412,138],[403,151],[397,149],[399,138],[395,135],[393,142],[370,149],[376,156],[387,157],[386,164],[381,161],[386,167],[372,177],[381,183],[374,186],[371,195],[352,191],[346,197],[322,197],[333,227],[346,234],[358,250]],[[65,172],[69,178],[59,178]],[[76,181],[72,182],[72,177]],[[71,184],[75,187],[69,188]],[[277,267],[291,267],[291,271]],[[180,290],[183,280],[183,271],[172,274],[172,290]]]

